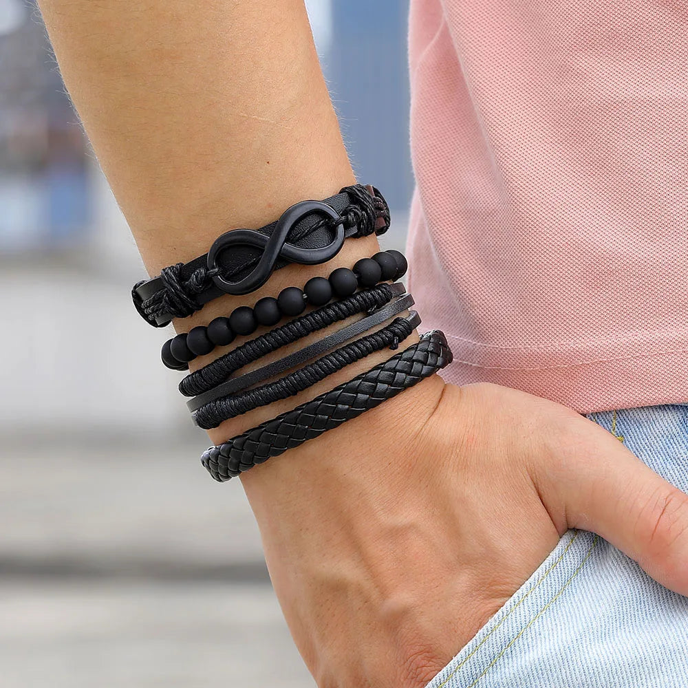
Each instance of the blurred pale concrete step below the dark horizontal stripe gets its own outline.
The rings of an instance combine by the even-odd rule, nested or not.
[[[314,688],[265,585],[0,579],[2,688]]]

